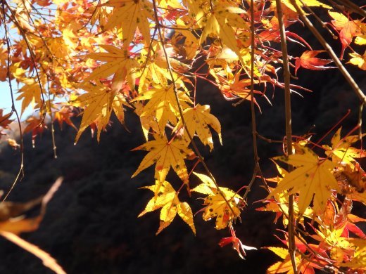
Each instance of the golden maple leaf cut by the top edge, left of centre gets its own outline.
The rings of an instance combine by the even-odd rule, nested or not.
[[[149,19],[153,20],[153,4],[150,1],[109,0],[102,6],[114,8],[108,17],[105,29],[111,30],[113,27],[117,27],[119,34],[122,34],[120,36],[122,36],[124,48],[130,46],[137,27],[145,41],[150,41]]]

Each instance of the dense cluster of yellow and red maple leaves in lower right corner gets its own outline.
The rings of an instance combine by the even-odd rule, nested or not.
[[[258,210],[276,212],[274,221],[282,217],[286,226],[289,223],[288,197],[295,195],[295,216],[304,230],[310,230],[312,241],[307,242],[301,234],[296,237],[296,249],[301,252],[296,255],[296,264],[301,273],[315,273],[315,268],[326,266],[365,270],[366,235],[355,223],[366,219],[351,214],[354,201],[366,205],[366,174],[358,163],[358,159],[366,157],[366,152],[351,146],[362,136],[341,138],[339,128],[332,138],[332,147],[322,145],[326,157],[319,157],[310,149],[308,140],[294,144],[294,155],[274,157],[274,160],[291,164],[296,169],[286,172],[277,166],[281,176],[268,180],[276,186],[264,201],[265,206]],[[282,242],[289,245],[287,239]],[[287,249],[268,249],[284,261],[274,263],[267,271],[291,273],[293,268]]]

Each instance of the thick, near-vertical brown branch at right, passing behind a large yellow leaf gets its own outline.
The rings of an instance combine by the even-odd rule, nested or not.
[[[284,66],[284,105],[285,105],[285,124],[286,124],[286,154],[292,155],[292,129],[291,129],[291,91],[290,91],[290,67],[289,56],[287,54],[286,33],[284,30],[284,22],[282,20],[281,1],[276,0],[277,18],[279,23],[279,33],[281,35],[282,60]],[[289,171],[293,167],[289,165]],[[296,266],[296,244],[295,244],[295,220],[294,220],[294,195],[289,195],[289,254],[291,258],[292,268],[294,273],[297,273]]]

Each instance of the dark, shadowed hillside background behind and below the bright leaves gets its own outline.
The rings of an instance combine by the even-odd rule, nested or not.
[[[327,132],[351,109],[343,123],[345,132],[357,123],[358,98],[336,70],[326,72],[298,72],[301,83],[313,93],[301,92],[304,98],[292,96],[294,134],[303,135],[310,129],[316,140]],[[362,72],[359,72],[360,76]],[[363,80],[365,86],[365,81]],[[222,124],[223,145],[214,135],[215,149],[201,147],[208,167],[222,186],[233,190],[248,184],[253,172],[250,103],[237,107],[225,101],[220,91],[205,81],[198,85],[198,103],[209,104],[211,112]],[[258,132],[273,140],[284,135],[283,91],[272,91],[267,96],[271,107],[259,98],[263,113],[257,111]],[[75,118],[78,124],[80,119]],[[159,212],[137,215],[151,199],[149,190],[139,190],[153,184],[153,167],[136,178],[130,176],[146,155],[131,152],[144,143],[139,121],[130,110],[126,112],[128,133],[118,122],[102,133],[101,142],[91,138],[87,130],[77,145],[73,145],[75,130],[56,125],[58,159],[53,159],[51,136],[46,131],[37,137],[32,148],[30,136],[25,136],[25,178],[16,185],[8,200],[26,201],[46,193],[58,176],[65,178],[60,190],[49,203],[39,230],[22,237],[49,252],[68,273],[222,273],[227,270],[265,273],[265,269],[279,257],[260,247],[281,246],[272,235],[275,231],[274,214],[255,211],[265,191],[256,184],[248,196],[248,209],[236,223],[236,235],[258,251],[247,252],[246,260],[239,258],[230,245],[220,248],[217,243],[227,237],[227,230],[215,230],[215,221],[204,222],[198,213],[196,237],[180,218],[155,236]],[[315,128],[312,129],[312,126]],[[331,134],[332,136],[332,134]],[[331,136],[328,136],[329,138]],[[329,140],[329,138],[327,138]],[[280,155],[282,145],[259,141],[260,163],[265,176],[275,174],[269,157]],[[18,169],[19,152],[4,143],[0,152],[0,188],[8,190]],[[187,161],[191,167],[192,161]],[[198,165],[196,171],[203,171]],[[180,181],[170,171],[168,176],[175,189]],[[258,181],[259,183],[260,181]],[[191,177],[191,187],[198,181]],[[241,193],[243,194],[243,193]],[[203,200],[185,191],[179,196],[191,204],[194,212],[202,208]],[[357,207],[357,205],[356,205]],[[0,273],[49,273],[41,261],[31,254],[0,239]]]

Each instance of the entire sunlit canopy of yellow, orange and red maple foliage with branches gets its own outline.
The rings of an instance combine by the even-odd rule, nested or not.
[[[268,195],[261,198],[258,211],[273,211],[278,227],[286,228],[278,247],[266,247],[280,257],[268,273],[363,273],[366,235],[358,223],[366,220],[351,209],[354,201],[366,204],[366,175],[359,163],[366,156],[360,142],[365,95],[345,65],[366,70],[365,17],[365,10],[348,0],[2,1],[0,80],[8,83],[8,91],[1,92],[11,96],[13,105],[9,113],[0,110],[0,129],[6,134],[13,121],[20,127],[19,144],[8,141],[21,154],[13,186],[23,176],[23,134],[31,132],[37,145],[37,136],[53,132],[57,122],[77,130],[76,144],[89,130],[99,141],[108,134],[103,131],[111,126],[111,116],[124,124],[125,112],[134,112],[146,142],[133,150],[145,150],[146,155],[131,176],[155,170],[145,187],[151,200],[139,216],[160,211],[156,234],[176,216],[196,233],[200,228],[189,200],[179,193],[200,193],[203,208],[198,215],[227,230],[220,246],[232,244],[244,258],[246,250],[260,247],[244,245],[234,228],[247,225],[240,223],[241,211],[253,207],[246,198],[253,183],[261,184]],[[322,30],[315,27],[320,24]],[[313,48],[297,31],[301,27],[320,46]],[[336,39],[341,49],[335,51],[329,39]],[[291,56],[288,46],[298,46],[301,53]],[[331,143],[314,140],[308,132],[292,136],[291,96],[308,89],[291,79],[301,77],[303,70],[334,68],[360,100],[352,110],[360,112],[359,123],[349,132],[341,130],[342,121],[330,125]],[[214,155],[215,146],[225,143],[210,105],[196,102],[198,79],[216,86],[222,103],[251,109],[255,168],[251,181],[239,190],[220,186],[198,150],[205,146]],[[262,111],[258,98],[271,103],[268,91],[284,93],[286,106],[283,155],[272,159],[278,171],[274,178],[263,174],[257,146],[258,138],[274,142],[256,129]],[[16,100],[22,102],[20,110]],[[23,128],[20,115],[28,107],[35,112]],[[80,126],[72,117],[81,117]],[[55,138],[53,152],[56,157]],[[169,172],[177,174],[177,181],[166,181]],[[192,185],[194,176],[199,185]],[[37,227],[26,223],[21,228],[16,222],[0,223],[0,234],[22,246],[16,235]],[[27,250],[37,254],[35,248]],[[37,256],[63,273],[45,254]]]

